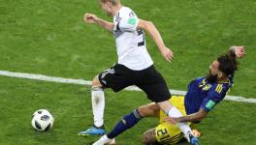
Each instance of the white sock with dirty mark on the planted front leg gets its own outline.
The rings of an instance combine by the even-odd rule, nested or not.
[[[94,126],[102,127],[104,124],[105,96],[104,90],[100,87],[94,87],[91,91],[91,104],[93,110]]]

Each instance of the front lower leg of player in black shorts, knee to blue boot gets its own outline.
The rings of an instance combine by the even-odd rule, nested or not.
[[[79,135],[101,135],[106,133],[104,129],[105,95],[99,75],[96,75],[92,80],[91,104],[94,121],[93,127],[86,131],[80,131]]]

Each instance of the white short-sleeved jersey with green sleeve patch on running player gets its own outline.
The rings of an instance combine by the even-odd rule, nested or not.
[[[127,7],[113,16],[118,64],[134,71],[142,71],[153,64],[145,47],[144,31],[136,29],[138,22],[137,15]]]

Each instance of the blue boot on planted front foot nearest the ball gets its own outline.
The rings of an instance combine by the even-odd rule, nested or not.
[[[80,131],[78,135],[80,136],[88,136],[88,135],[103,135],[105,134],[105,128],[104,126],[98,128],[98,127],[91,127],[90,129],[88,129],[87,131]]]

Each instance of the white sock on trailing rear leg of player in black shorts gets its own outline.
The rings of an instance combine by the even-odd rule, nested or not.
[[[181,117],[183,115],[180,113],[180,111],[176,107],[173,106],[169,109],[168,116],[170,116],[170,117]],[[185,123],[178,123],[178,128],[179,128],[180,131],[182,131],[184,133],[188,142],[190,142],[189,134],[192,132],[190,127]]]

